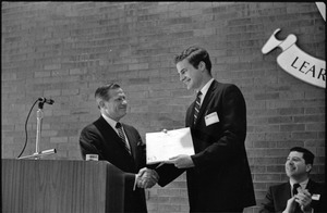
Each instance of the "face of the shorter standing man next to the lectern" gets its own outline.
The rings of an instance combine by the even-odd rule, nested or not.
[[[108,101],[101,100],[101,111],[114,121],[119,121],[126,114],[128,101],[125,93],[121,88],[110,89],[110,99]]]

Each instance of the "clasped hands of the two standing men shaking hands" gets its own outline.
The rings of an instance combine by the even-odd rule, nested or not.
[[[136,174],[136,185],[138,188],[152,188],[159,180],[159,175],[156,171],[144,167]]]

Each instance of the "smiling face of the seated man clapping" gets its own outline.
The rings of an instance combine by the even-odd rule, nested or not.
[[[295,180],[304,180],[308,176],[312,164],[305,164],[302,152],[291,151],[284,164],[288,177]]]

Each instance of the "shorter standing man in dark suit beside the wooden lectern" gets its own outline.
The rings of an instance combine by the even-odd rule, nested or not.
[[[95,98],[101,116],[81,133],[82,156],[85,160],[86,154],[97,154],[99,160],[108,161],[125,172],[124,212],[147,212],[144,189],[136,185],[152,187],[157,183],[158,175],[145,168],[145,145],[138,131],[119,122],[126,114],[125,95],[118,84],[109,84],[99,87]],[[146,171],[146,178],[137,174],[141,170]]]

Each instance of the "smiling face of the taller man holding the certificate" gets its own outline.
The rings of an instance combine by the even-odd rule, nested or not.
[[[195,68],[187,59],[177,63],[177,70],[180,75],[180,80],[184,83],[187,89],[201,89],[203,86],[203,62]]]

